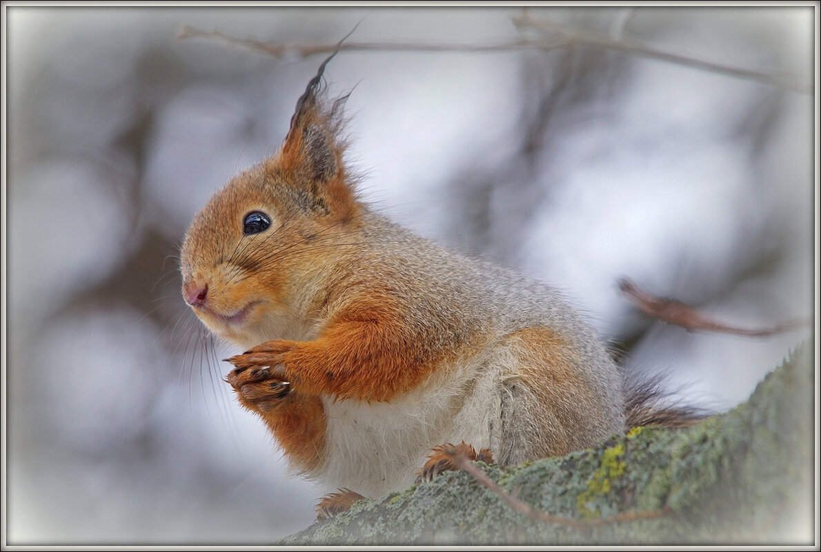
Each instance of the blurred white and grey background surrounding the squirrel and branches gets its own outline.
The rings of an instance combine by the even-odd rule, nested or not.
[[[282,43],[490,44],[502,8],[4,7],[7,542],[265,544],[328,491],[287,474],[221,381],[177,254],[209,194],[273,153],[324,54]],[[814,82],[814,8],[533,9],[537,21]],[[627,369],[744,400],[810,326],[767,338],[640,316],[619,276],[735,326],[814,317],[814,96],[612,48],[345,51],[366,198],[557,286]],[[791,77],[792,78],[792,77]],[[808,413],[811,415],[811,413]]]

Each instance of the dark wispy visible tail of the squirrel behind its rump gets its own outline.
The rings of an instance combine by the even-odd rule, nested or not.
[[[670,392],[663,384],[663,376],[628,378],[624,405],[627,430],[641,426],[690,427],[709,417],[703,408],[670,403]]]

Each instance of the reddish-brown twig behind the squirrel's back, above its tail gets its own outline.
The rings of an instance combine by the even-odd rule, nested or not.
[[[695,308],[690,307],[676,299],[659,298],[651,295],[635,285],[627,278],[618,281],[619,290],[630,299],[635,306],[645,315],[657,318],[668,324],[681,326],[689,331],[720,331],[728,334],[750,335],[753,337],[763,337],[765,335],[779,334],[785,331],[796,330],[802,326],[810,326],[810,322],[788,322],[781,326],[775,326],[764,330],[749,330],[728,326],[722,322],[716,322],[709,317],[705,317]]]

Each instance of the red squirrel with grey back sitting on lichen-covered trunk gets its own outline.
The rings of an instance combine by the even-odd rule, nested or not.
[[[292,469],[339,490],[318,518],[454,469],[446,443],[511,465],[697,419],[658,408],[657,382],[628,381],[556,290],[357,197],[347,96],[323,81],[334,55],[282,147],[213,194],[181,248],[186,303],[245,351],[225,378],[239,403]]]

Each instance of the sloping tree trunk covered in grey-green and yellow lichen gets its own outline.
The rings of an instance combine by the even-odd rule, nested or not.
[[[511,509],[469,473],[446,472],[277,544],[812,544],[814,394],[805,342],[745,403],[685,430],[643,427],[509,468],[478,463],[503,490],[551,515],[663,510],[662,518],[548,523]]]

